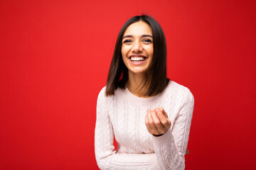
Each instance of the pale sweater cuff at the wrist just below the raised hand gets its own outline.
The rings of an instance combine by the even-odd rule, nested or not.
[[[171,130],[167,130],[167,132],[164,135],[161,135],[159,137],[155,137],[152,135],[154,148],[160,148],[165,145],[170,145],[171,141],[174,140],[174,136],[171,133]]]

